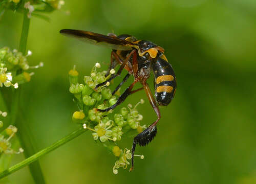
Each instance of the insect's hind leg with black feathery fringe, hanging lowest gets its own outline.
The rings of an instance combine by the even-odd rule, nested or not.
[[[148,84],[146,82],[143,83],[143,88],[146,92],[147,98],[150,101],[151,106],[153,107],[153,109],[157,114],[157,120],[154,123],[152,123],[149,127],[147,127],[147,129],[145,129],[136,137],[134,137],[133,147],[132,147],[132,167],[130,171],[132,171],[134,167],[134,152],[135,152],[136,145],[138,144],[139,146],[146,146],[148,143],[150,143],[154,139],[157,133],[156,124],[161,118],[161,114],[156,104],[156,101],[151,93],[150,87],[148,87]]]

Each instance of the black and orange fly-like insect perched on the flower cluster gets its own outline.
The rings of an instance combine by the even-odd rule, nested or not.
[[[147,40],[138,40],[134,36],[122,34],[116,36],[114,33],[109,33],[107,36],[93,33],[89,31],[79,31],[63,29],[60,33],[76,37],[80,40],[90,42],[97,45],[105,45],[112,49],[111,62],[108,73],[118,64],[120,68],[116,74],[111,74],[111,77],[103,83],[98,84],[95,89],[110,82],[115,77],[119,76],[123,69],[128,73],[123,78],[122,82],[115,88],[112,94],[121,87],[121,85],[131,76],[134,76],[134,82],[126,88],[124,93],[119,96],[117,102],[106,109],[98,109],[99,111],[109,111],[122,103],[129,95],[144,89],[151,106],[157,114],[157,120],[148,126],[144,131],[134,137],[132,146],[132,167],[134,167],[134,152],[135,147],[146,146],[150,143],[157,133],[157,123],[161,118],[158,106],[168,105],[175,96],[176,91],[176,76],[172,65],[170,65],[164,55],[164,49],[155,43]],[[154,99],[150,87],[146,80],[150,77],[151,71],[155,76],[155,97]],[[134,85],[140,82],[143,87],[133,90]]]

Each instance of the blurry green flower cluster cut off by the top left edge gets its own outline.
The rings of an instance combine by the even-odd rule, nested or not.
[[[56,9],[59,10],[64,4],[65,2],[63,0],[2,0],[0,6],[4,7],[4,9],[11,9],[17,12],[26,11],[28,12],[28,18],[31,18],[31,15],[33,14],[38,16],[38,13],[41,12],[52,12]],[[39,16],[44,17],[41,14]]]

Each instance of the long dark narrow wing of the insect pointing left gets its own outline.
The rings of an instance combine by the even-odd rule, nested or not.
[[[78,38],[79,40],[86,41],[88,43],[104,45],[114,50],[129,51],[133,49],[131,46],[135,45],[132,42],[122,40],[117,37],[105,36],[90,31],[63,29],[60,30],[60,33],[67,36]]]

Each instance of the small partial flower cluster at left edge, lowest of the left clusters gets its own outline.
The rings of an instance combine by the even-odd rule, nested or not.
[[[2,112],[0,110],[0,117],[6,117],[7,112]],[[0,121],[0,128],[3,127],[3,121]],[[10,125],[4,131],[0,133],[0,154],[19,154],[22,153],[24,150],[19,148],[18,151],[14,151],[11,144],[11,139],[17,132],[17,128],[15,126]]]

